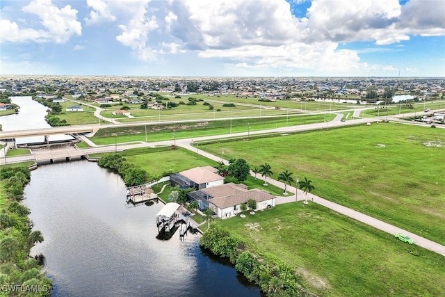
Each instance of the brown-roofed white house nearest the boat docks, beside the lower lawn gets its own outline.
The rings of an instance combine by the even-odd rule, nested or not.
[[[257,202],[255,210],[267,209],[275,206],[276,196],[253,188],[248,190],[244,184],[222,184],[187,194],[188,201],[195,200],[200,210],[211,209],[219,218],[229,218],[241,212],[241,204],[247,204],[252,199]]]

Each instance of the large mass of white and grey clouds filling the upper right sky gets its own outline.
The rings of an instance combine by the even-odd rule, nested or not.
[[[444,34],[445,18],[434,5],[437,1],[401,6],[398,0],[313,0],[306,17],[298,19],[284,0],[172,0],[165,20],[170,33],[202,58],[253,67],[390,72],[391,65],[369,65],[358,51],[338,45],[389,45],[412,34]],[[416,10],[422,15],[414,16]]]

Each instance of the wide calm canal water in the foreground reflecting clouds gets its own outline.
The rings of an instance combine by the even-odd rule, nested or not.
[[[261,296],[235,269],[207,255],[200,235],[156,239],[163,204],[129,206],[122,179],[96,163],[40,166],[25,188],[54,281],[51,296]]]

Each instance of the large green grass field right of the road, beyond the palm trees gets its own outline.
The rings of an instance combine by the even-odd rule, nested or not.
[[[312,179],[312,193],[445,244],[443,129],[380,123],[200,145]]]

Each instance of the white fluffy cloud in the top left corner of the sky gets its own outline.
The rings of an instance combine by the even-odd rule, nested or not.
[[[10,42],[65,43],[72,35],[81,35],[82,26],[76,19],[77,10],[70,5],[58,8],[51,0],[33,0],[22,10],[37,15],[42,29],[20,28],[8,19],[0,21],[1,39]]]

